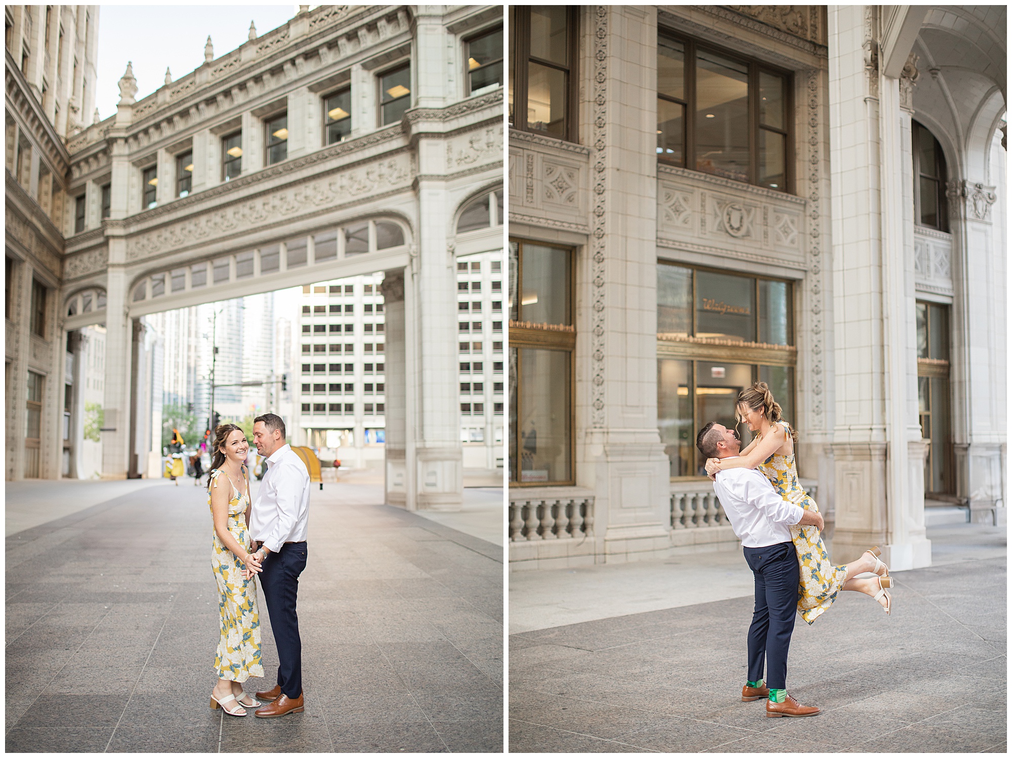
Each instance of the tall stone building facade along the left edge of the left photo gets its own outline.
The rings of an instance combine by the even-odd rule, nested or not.
[[[75,210],[65,140],[94,107],[97,25],[97,5],[4,6],[8,480],[71,473],[67,398],[86,378],[66,360],[59,325],[63,228]]]

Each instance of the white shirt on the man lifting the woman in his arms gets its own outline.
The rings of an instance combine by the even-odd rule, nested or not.
[[[777,495],[769,480],[756,469],[718,472],[713,491],[745,548],[789,542],[788,527],[800,521],[805,513],[804,508]]]

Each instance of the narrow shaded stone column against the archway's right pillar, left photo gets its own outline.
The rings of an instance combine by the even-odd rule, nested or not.
[[[405,397],[404,271],[387,271],[380,290],[384,298],[387,334],[386,398],[387,443],[384,491],[391,505],[406,505],[405,449],[407,443],[407,398]]]

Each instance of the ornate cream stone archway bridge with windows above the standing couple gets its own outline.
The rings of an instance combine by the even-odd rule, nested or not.
[[[126,67],[117,113],[61,148],[52,230],[54,353],[106,328],[103,476],[144,469],[141,317],[385,271],[389,502],[459,506],[455,262],[501,230],[457,223],[502,183],[501,29],[498,6],[301,6],[142,100]]]

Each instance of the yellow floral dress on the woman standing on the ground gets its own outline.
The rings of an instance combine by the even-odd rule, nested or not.
[[[246,509],[249,507],[249,493],[242,495],[228,476],[221,476],[216,469],[210,473],[212,486],[219,482],[232,488],[229,500],[229,531],[236,540],[249,550],[252,546],[246,529]],[[210,507],[210,491],[207,491],[207,506]],[[214,526],[212,526],[214,531]],[[260,614],[256,603],[256,579],[243,579],[246,568],[235,554],[222,544],[215,531],[210,554],[210,567],[218,582],[218,610],[222,617],[222,638],[215,656],[215,670],[220,679],[245,682],[251,676],[263,676],[260,663]]]

